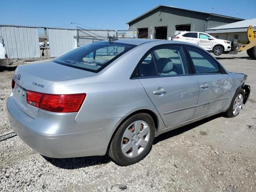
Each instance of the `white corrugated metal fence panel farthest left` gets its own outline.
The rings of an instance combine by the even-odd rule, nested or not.
[[[30,27],[0,26],[8,58],[39,58],[38,29]]]

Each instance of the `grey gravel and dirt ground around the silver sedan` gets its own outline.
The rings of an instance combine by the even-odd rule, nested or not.
[[[14,136],[0,142],[0,191],[256,191],[256,61],[244,52],[219,59],[252,86],[236,118],[216,115],[161,135],[127,167],[108,156],[42,157]],[[5,106],[12,76],[0,72],[0,138],[12,132]]]

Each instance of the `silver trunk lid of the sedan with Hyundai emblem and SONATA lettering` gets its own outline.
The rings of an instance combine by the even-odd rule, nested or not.
[[[28,116],[36,118],[39,108],[27,103],[27,90],[44,93],[54,81],[90,76],[93,74],[95,73],[54,62],[18,66],[14,74],[15,87],[12,90],[12,94],[18,107]]]

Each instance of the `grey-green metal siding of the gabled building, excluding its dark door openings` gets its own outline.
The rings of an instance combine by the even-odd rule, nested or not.
[[[162,10],[162,11],[160,11]],[[171,7],[161,6],[160,8],[149,12],[148,14],[129,23],[129,30],[138,30],[138,28],[148,28],[148,38],[152,34],[155,37],[155,27],[167,26],[167,38],[174,36],[175,26],[182,24],[191,24],[191,31],[204,32],[206,18],[210,14],[194,12],[190,10],[182,10]],[[210,16],[209,27],[220,26],[238,20],[230,18],[220,18],[218,16]],[[207,27],[207,26],[206,26]],[[152,30],[152,32],[151,32]]]

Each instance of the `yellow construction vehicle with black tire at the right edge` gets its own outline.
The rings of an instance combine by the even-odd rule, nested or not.
[[[238,52],[245,51],[252,59],[256,59],[256,32],[253,32],[253,26],[250,25],[247,30],[249,44],[241,45]]]

